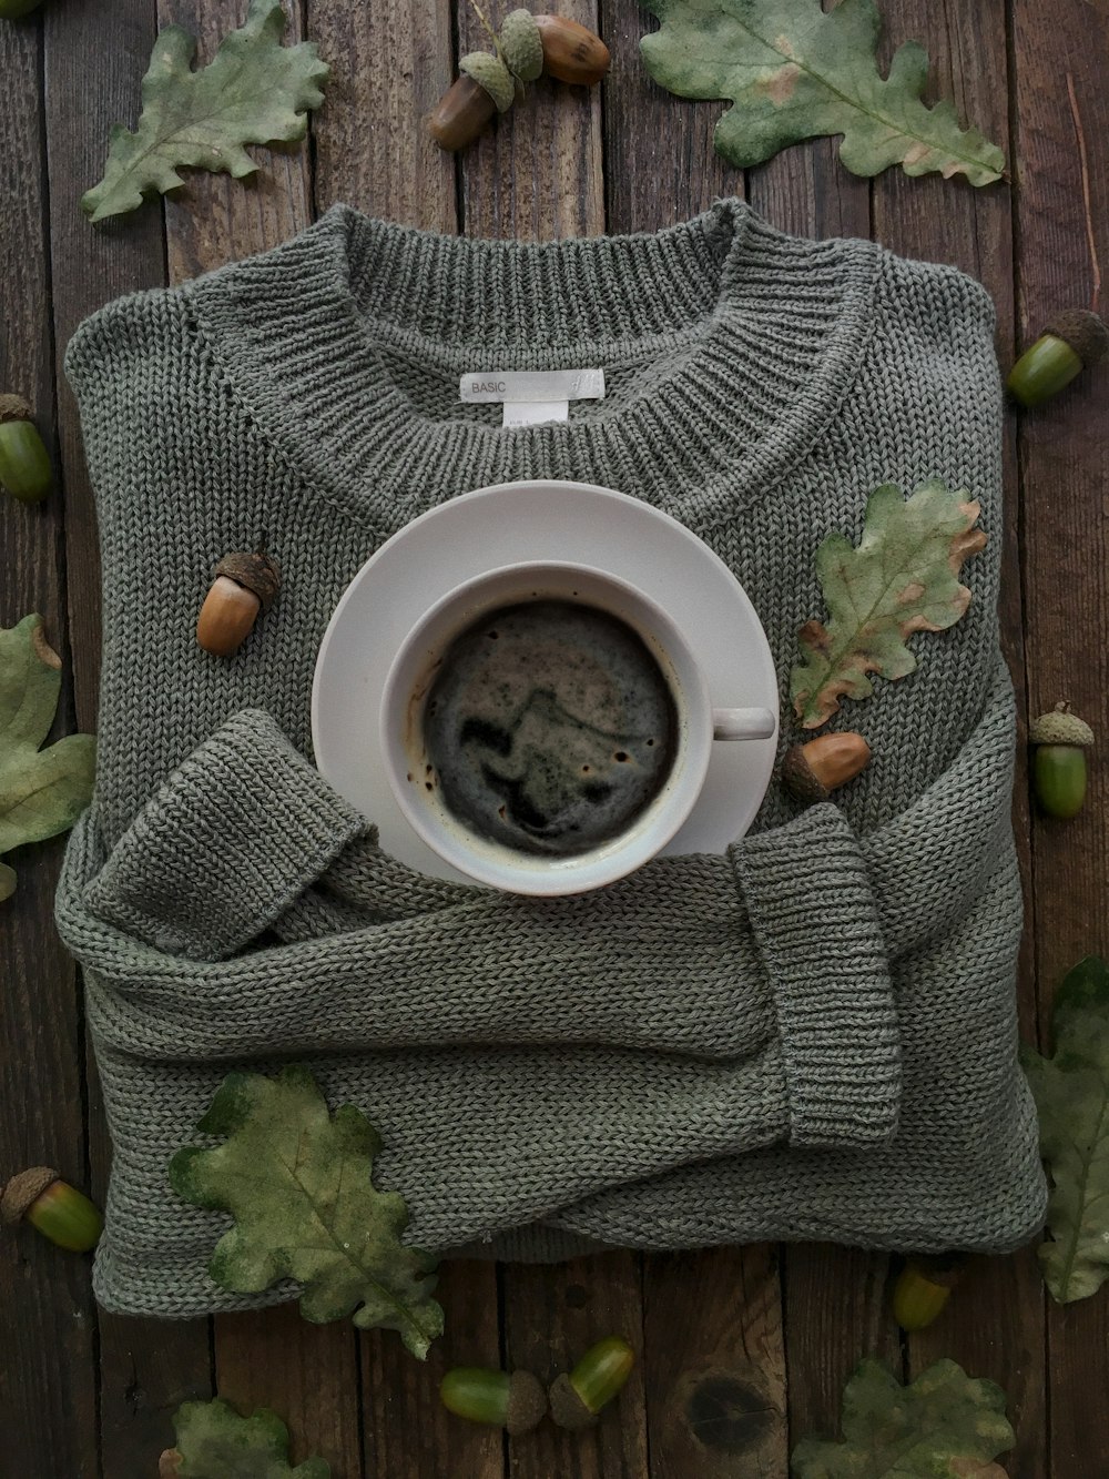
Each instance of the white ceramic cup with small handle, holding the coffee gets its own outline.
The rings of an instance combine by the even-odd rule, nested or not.
[[[451,643],[484,615],[529,600],[569,600],[631,627],[658,663],[677,714],[670,772],[618,836],[571,856],[526,853],[478,834],[452,815],[429,781],[424,704]],[[381,694],[380,742],[389,785],[414,831],[460,873],[512,893],[584,893],[625,877],[661,852],[689,816],[714,740],[766,740],[769,708],[713,708],[705,676],[674,620],[642,590],[605,571],[571,563],[519,563],[464,581],[413,627]]]

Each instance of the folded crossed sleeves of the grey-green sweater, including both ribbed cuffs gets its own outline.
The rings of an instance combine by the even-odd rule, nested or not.
[[[726,858],[657,859],[609,889],[534,901],[390,859],[247,710],[106,858],[83,824],[59,927],[102,984],[102,1034],[118,1022],[127,1052],[154,1053],[167,1032],[195,1060],[336,1043],[646,1049],[750,1063],[750,1146],[866,1146],[896,1128],[890,961],[973,907],[1007,821],[1010,751],[1000,673],[951,769],[864,839],[815,806]]]

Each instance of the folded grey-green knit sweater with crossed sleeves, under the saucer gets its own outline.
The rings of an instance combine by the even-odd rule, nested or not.
[[[503,429],[458,374],[602,365]],[[461,241],[336,207],[105,308],[68,352],[104,550],[96,799],[58,898],[114,1140],[96,1288],[195,1315],[226,1219],[166,1165],[232,1066],[312,1068],[384,1137],[423,1247],[547,1259],[832,1238],[1007,1250],[1044,1186],[1016,1062],[1013,705],[997,643],[992,309],[948,268],[782,235],[736,201],[658,235]],[[843,806],[773,784],[726,856],[526,901],[424,879],[312,768],[316,648],[414,515],[516,478],[634,494],[735,571],[782,688],[819,541],[937,475],[982,500],[973,603],[847,705]],[[198,649],[260,531],[281,596]],[[927,646],[927,652],[924,648]],[[788,744],[788,725],[782,744]]]

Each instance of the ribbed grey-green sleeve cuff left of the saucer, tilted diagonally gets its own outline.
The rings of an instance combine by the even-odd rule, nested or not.
[[[158,950],[220,960],[370,830],[269,714],[243,710],[148,802],[84,902]]]

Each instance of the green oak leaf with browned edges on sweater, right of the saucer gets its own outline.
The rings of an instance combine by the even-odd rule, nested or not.
[[[939,478],[908,498],[886,484],[866,500],[859,547],[830,534],[816,550],[816,575],[831,612],[798,633],[803,658],[790,676],[803,729],[819,729],[840,698],[869,698],[868,673],[906,677],[917,658],[905,646],[914,632],[943,632],[970,605],[958,581],[963,562],[985,547],[974,528],[979,504]]]

